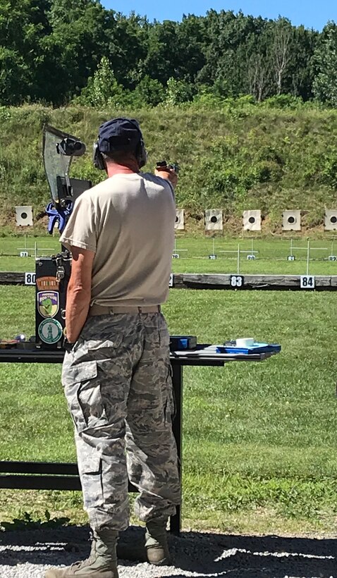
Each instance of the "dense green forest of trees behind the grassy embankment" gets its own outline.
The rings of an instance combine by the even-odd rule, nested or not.
[[[181,22],[99,0],[0,0],[0,105],[99,106],[288,95],[337,105],[337,25],[322,32],[242,12]]]

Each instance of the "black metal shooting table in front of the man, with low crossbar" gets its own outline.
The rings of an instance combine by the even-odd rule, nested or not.
[[[0,363],[62,363],[63,350],[42,350],[34,348],[0,349]],[[216,353],[216,346],[199,345],[198,350],[171,352],[173,389],[176,396],[176,416],[173,433],[178,446],[179,464],[182,453],[182,409],[183,409],[183,367],[186,365],[223,367],[228,362],[257,362],[274,355],[272,352],[243,354]],[[181,472],[180,472],[181,473]],[[11,462],[0,461],[0,488],[30,490],[80,490],[78,467],[75,463],[57,462]],[[129,491],[136,488],[129,484]],[[170,531],[179,534],[181,511],[170,519]]]

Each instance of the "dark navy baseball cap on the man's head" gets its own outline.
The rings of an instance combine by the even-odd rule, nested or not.
[[[135,151],[142,140],[140,126],[134,118],[112,118],[99,127],[99,151],[109,153],[116,149]]]

